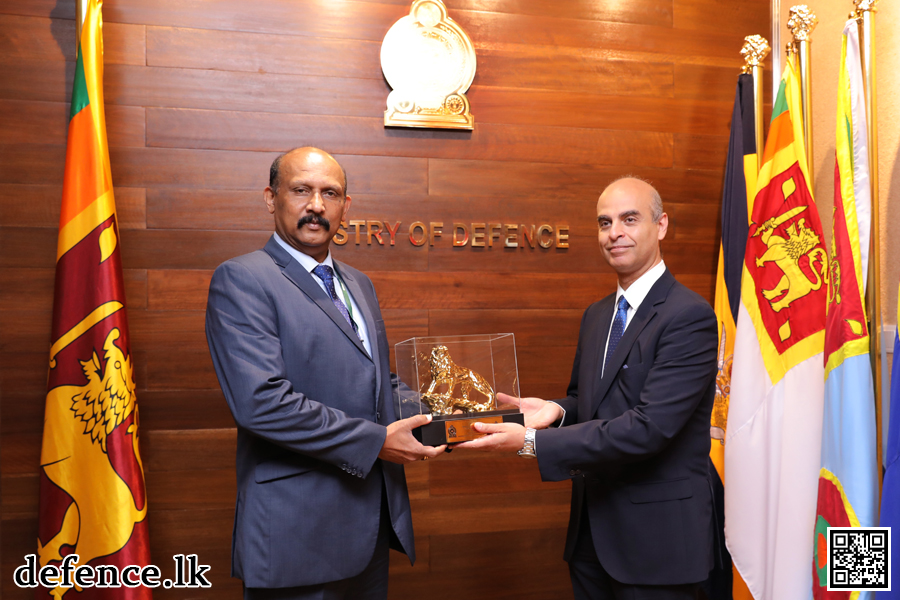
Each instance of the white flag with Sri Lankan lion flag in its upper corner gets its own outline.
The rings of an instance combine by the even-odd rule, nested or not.
[[[725,436],[725,536],[756,600],[812,585],[828,255],[808,173],[789,60],[750,212]]]

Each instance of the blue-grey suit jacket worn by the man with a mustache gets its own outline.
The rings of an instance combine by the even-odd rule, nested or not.
[[[248,587],[359,574],[375,548],[382,490],[413,560],[403,467],[377,459],[395,420],[388,344],[368,277],[335,268],[373,356],[318,283],[270,239],[216,269],[206,335],[237,423],[232,575]]]

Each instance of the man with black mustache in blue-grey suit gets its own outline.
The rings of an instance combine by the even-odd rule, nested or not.
[[[387,598],[388,548],[414,560],[402,464],[434,457],[397,421],[368,277],[331,258],[344,170],[298,148],[272,164],[265,248],[216,269],[206,334],[237,423],[232,575],[248,599]]]

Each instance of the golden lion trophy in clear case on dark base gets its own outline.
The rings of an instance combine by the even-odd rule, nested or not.
[[[479,437],[474,423],[524,424],[514,405],[496,392],[519,395],[516,343],[511,333],[419,337],[395,346],[397,417],[431,413],[431,423],[414,430],[428,446]]]

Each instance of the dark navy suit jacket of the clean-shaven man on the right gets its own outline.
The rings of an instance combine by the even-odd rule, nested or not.
[[[713,564],[709,417],[716,317],[666,271],[601,378],[615,294],[584,313],[563,427],[537,432],[541,476],[572,479],[565,558],[587,502],[600,563],[627,584],[706,579]]]

